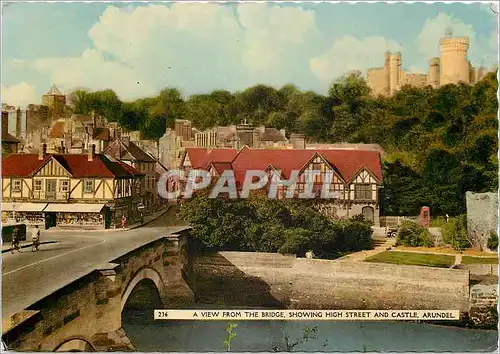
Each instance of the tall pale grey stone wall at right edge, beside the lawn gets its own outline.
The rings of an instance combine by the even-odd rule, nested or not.
[[[498,194],[467,192],[466,199],[469,238],[475,247],[487,249],[490,232],[497,231]]]

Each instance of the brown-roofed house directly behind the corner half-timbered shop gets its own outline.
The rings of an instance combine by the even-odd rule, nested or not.
[[[144,188],[142,189],[142,205],[144,214],[149,214],[157,207],[157,175],[156,160],[144,152],[128,136],[112,141],[105,150],[105,154],[114,157],[125,164],[134,167],[144,174]]]

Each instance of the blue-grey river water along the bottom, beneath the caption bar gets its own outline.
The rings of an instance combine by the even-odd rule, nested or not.
[[[151,321],[122,319],[123,328],[141,352],[225,351],[227,321]],[[317,327],[316,338],[293,351],[325,352],[492,352],[497,331],[471,330],[409,322],[238,321],[231,351],[273,351],[303,338]]]

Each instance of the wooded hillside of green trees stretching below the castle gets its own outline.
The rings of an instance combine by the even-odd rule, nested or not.
[[[359,72],[332,83],[327,95],[291,84],[255,85],[241,92],[215,90],[183,98],[174,88],[158,96],[121,102],[112,90],[71,94],[73,111],[96,114],[161,137],[175,119],[198,129],[246,119],[311,142],[376,143],[385,151],[381,209],[385,215],[465,212],[465,192],[498,188],[498,83],[496,73],[473,86],[437,89],[404,86],[391,97],[372,97]]]

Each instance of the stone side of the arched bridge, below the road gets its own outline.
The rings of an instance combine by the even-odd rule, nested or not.
[[[124,313],[153,318],[154,308],[194,302],[189,229],[135,249],[11,318],[2,339],[16,351],[127,351]],[[61,271],[64,271],[61,269]]]

